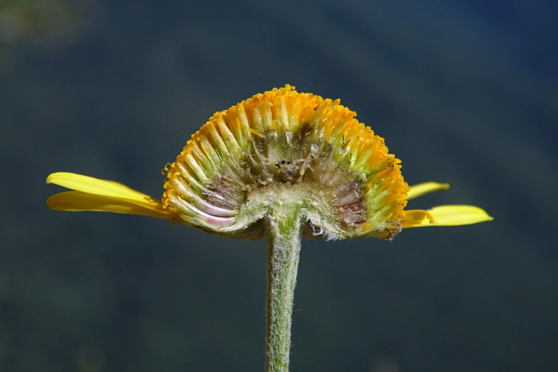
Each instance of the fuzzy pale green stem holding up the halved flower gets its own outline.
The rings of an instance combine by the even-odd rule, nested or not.
[[[299,203],[281,203],[266,217],[266,372],[287,372],[291,347],[292,300],[302,241]]]

